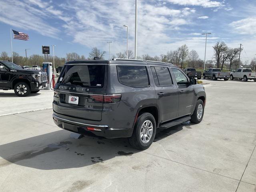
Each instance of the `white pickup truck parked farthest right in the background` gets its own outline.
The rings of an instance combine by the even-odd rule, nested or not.
[[[252,72],[251,69],[237,69],[230,73],[230,80],[234,80],[234,78],[243,79],[244,81],[248,81],[248,79],[256,81],[256,72]]]

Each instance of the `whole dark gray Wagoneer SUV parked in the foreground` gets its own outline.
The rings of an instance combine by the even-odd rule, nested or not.
[[[156,129],[204,115],[204,87],[180,68],[144,60],[66,62],[54,89],[53,120],[60,128],[105,138],[129,138],[148,148]]]

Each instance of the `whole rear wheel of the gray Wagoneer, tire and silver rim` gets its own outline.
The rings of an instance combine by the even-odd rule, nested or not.
[[[150,147],[156,136],[156,120],[150,113],[141,114],[134,126],[132,137],[129,138],[130,145],[138,150]]]

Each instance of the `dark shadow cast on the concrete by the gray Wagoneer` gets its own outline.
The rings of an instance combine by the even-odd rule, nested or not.
[[[154,142],[182,130],[182,126],[184,125],[158,130]],[[57,138],[58,134],[65,131],[59,130],[0,145],[0,157],[2,158],[0,168],[10,164],[40,170],[79,168],[94,164],[94,166],[104,166],[106,160],[117,156],[131,156],[140,152],[130,146],[127,138],[106,139],[97,136],[81,136],[76,133],[71,133],[70,138],[66,140],[42,145],[46,138]],[[78,137],[74,138],[72,134]]]

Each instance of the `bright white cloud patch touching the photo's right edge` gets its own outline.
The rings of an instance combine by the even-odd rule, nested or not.
[[[230,23],[234,31],[239,34],[256,34],[256,17],[248,17]]]

